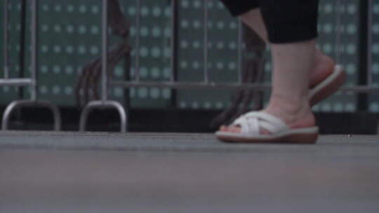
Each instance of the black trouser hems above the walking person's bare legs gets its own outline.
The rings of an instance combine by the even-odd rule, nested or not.
[[[316,39],[319,0],[220,0],[233,16],[260,8],[270,43]]]

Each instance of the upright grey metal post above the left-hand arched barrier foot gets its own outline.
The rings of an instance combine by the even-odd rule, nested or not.
[[[37,64],[38,64],[38,56],[37,56],[37,45],[38,45],[38,0],[32,0],[32,90],[31,90],[31,99],[32,101],[36,101],[37,99]]]

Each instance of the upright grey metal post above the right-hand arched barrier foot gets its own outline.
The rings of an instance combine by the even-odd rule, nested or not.
[[[105,102],[108,97],[108,1],[102,0],[102,42],[101,42],[101,60],[102,60],[102,67],[101,67],[101,100],[102,102]]]

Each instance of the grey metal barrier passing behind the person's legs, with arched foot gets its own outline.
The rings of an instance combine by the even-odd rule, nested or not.
[[[177,4],[178,1],[171,0],[171,78],[170,81],[164,81],[164,82],[154,82],[154,81],[140,81],[140,1],[137,0],[136,2],[136,18],[135,18],[135,32],[136,33],[136,41],[135,41],[135,79],[132,81],[109,81],[107,79],[107,66],[106,64],[106,51],[107,51],[107,0],[102,0],[102,60],[103,60],[103,67],[102,67],[102,101],[96,101],[96,102],[90,102],[88,106],[84,109],[81,121],[80,121],[80,130],[84,131],[86,128],[86,118],[88,116],[88,111],[91,109],[94,109],[96,107],[115,107],[121,116],[121,132],[126,132],[126,113],[124,107],[121,106],[118,102],[111,102],[107,100],[107,90],[108,85],[112,86],[119,86],[122,88],[131,88],[131,87],[156,87],[156,88],[173,88],[173,89],[194,89],[194,88],[251,88],[255,90],[270,90],[271,85],[269,84],[262,84],[262,83],[242,83],[242,57],[243,57],[243,51],[242,51],[242,27],[241,22],[239,22],[239,30],[238,30],[238,47],[239,47],[239,54],[238,54],[238,62],[239,62],[239,68],[238,68],[238,79],[239,81],[237,83],[216,83],[211,82],[209,80],[209,73],[208,73],[208,1],[210,0],[204,0],[204,81],[201,82],[178,82],[175,81],[175,60],[176,57],[178,57],[175,54],[175,44],[173,38],[175,38],[175,32],[176,32],[176,25],[175,22],[178,20],[177,11]],[[340,0],[335,1],[336,8],[340,8]],[[372,0],[371,0],[372,4]],[[341,15],[342,10],[337,10],[338,15],[336,16],[335,25],[340,25],[341,22]],[[368,20],[370,21],[370,20]],[[372,22],[372,20],[371,20]],[[338,42],[337,46],[337,60],[339,60],[340,57],[340,30],[336,33],[336,42]],[[370,41],[370,40],[369,40]],[[370,45],[368,45],[370,46]],[[368,51],[371,51],[368,49]],[[368,63],[372,63],[371,61],[368,61]],[[368,69],[367,73],[368,76],[371,76],[370,70]],[[369,78],[371,79],[371,77]],[[378,87],[373,87],[372,81],[370,80],[368,85],[359,85],[354,87],[344,87],[340,89],[341,92],[379,92]]]

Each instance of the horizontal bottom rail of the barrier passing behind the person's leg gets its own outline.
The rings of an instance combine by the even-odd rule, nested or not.
[[[154,87],[154,88],[175,88],[175,89],[255,89],[270,90],[269,83],[204,83],[204,82],[170,82],[170,81],[111,81],[113,86],[121,86],[123,88],[132,87]],[[346,86],[340,88],[340,92],[379,92],[379,86]]]

